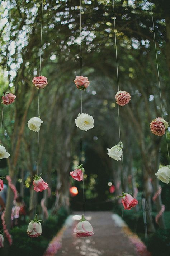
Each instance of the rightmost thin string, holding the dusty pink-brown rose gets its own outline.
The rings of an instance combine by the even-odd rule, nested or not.
[[[160,85],[160,75],[159,75],[159,67],[158,67],[158,59],[157,59],[157,48],[156,48],[156,39],[155,39],[155,28],[154,28],[154,18],[153,18],[153,12],[152,12],[152,2],[151,3],[151,13],[152,13],[152,26],[154,31],[154,42],[155,42],[155,55],[156,55],[156,65],[157,65],[157,76],[158,76],[158,82],[159,82],[159,93],[160,93],[160,101],[161,101],[161,112],[162,112],[162,118],[163,116],[163,110],[162,110],[162,96],[161,96],[161,85]],[[167,130],[166,130],[166,144],[167,144],[167,154],[168,154],[168,162],[170,165],[169,160],[169,146],[168,146],[168,140],[167,140]]]

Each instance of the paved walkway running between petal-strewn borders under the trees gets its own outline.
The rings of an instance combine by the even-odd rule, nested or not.
[[[81,215],[80,212],[75,212],[77,214]],[[77,223],[74,220],[64,232],[62,248],[56,256],[137,256],[134,246],[112,217],[111,212],[86,212],[85,218],[93,226],[95,235],[85,238],[75,238],[72,235]],[[76,216],[73,218],[76,219]]]

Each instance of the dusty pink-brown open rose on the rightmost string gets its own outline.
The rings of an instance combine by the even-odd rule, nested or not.
[[[151,132],[157,136],[162,136],[165,134],[165,130],[168,128],[168,122],[166,122],[163,118],[157,117],[152,120],[150,123]]]

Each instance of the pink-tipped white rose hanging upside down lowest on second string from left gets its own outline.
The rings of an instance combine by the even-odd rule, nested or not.
[[[40,221],[41,220],[37,220],[37,214],[36,214],[35,219],[29,223],[27,228],[27,235],[29,235],[29,237],[39,237],[42,234]]]

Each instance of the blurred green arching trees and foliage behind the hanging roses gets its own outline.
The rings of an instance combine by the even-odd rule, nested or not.
[[[151,6],[163,114],[170,122],[170,2],[115,0],[116,31],[113,1],[82,0],[81,6],[80,38],[79,1],[43,1],[41,75],[47,77],[48,85],[40,91],[39,111],[44,123],[39,133],[39,174],[51,191],[38,193],[37,213],[44,222],[42,236],[32,241],[34,250],[29,248],[27,223],[23,220],[10,231],[13,246],[8,253],[11,250],[25,256],[43,255],[66,217],[72,211],[83,210],[82,182],[69,175],[80,165],[80,130],[74,121],[81,111],[80,90],[73,80],[80,75],[81,40],[82,75],[90,81],[88,89],[82,91],[82,112],[94,117],[94,128],[82,132],[85,210],[113,211],[122,216],[117,198],[123,191],[122,163],[107,155],[107,148],[119,142],[116,32],[119,88],[131,94],[129,104],[119,108],[125,192],[139,201],[136,208],[123,211],[124,220],[153,255],[170,255],[170,185],[155,176],[161,165],[168,165],[166,136],[153,135],[149,127],[152,119],[161,116]],[[38,112],[38,90],[32,79],[39,75],[41,10],[41,0],[0,1],[1,95],[6,85],[6,91],[17,97],[13,104],[4,106],[2,143],[10,158],[0,160],[0,176],[10,175],[16,184],[25,202],[24,219],[34,218],[36,204],[32,181],[37,170],[37,133],[28,129],[27,122]],[[170,144],[169,131],[170,127]],[[162,192],[154,203],[152,196],[159,185]],[[142,198],[146,204],[147,241]],[[48,219],[41,207],[42,199]],[[156,224],[155,216],[162,204],[165,212]],[[13,192],[8,189],[5,217],[9,229],[12,207]]]

